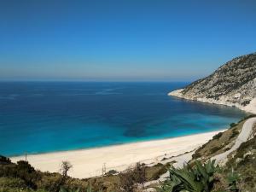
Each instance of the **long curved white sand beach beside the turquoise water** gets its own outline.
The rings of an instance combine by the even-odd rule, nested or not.
[[[73,165],[69,172],[72,177],[84,178],[102,175],[102,166],[109,170],[123,171],[137,162],[146,164],[160,162],[189,152],[206,143],[219,131],[175,137],[141,143],[128,143],[104,148],[90,148],[49,154],[28,155],[27,160],[36,169],[46,172],[59,172],[61,161],[68,160]],[[11,158],[13,161],[25,160],[25,156]]]

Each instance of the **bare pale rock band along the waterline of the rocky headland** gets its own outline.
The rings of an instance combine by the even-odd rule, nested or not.
[[[208,99],[208,98],[196,98],[196,99],[190,98],[189,96],[183,96],[182,91],[183,91],[183,89],[172,90],[171,92],[168,93],[168,96],[176,96],[178,98],[183,98],[183,99],[190,100],[190,101],[206,102],[206,103],[210,103],[210,104],[236,107],[236,108],[239,108],[242,111],[245,111],[247,113],[256,114],[256,98],[253,98],[253,100],[246,107],[243,107],[243,106],[241,106],[239,104],[236,104],[236,103],[225,102],[224,100],[218,100],[217,101],[217,100]]]

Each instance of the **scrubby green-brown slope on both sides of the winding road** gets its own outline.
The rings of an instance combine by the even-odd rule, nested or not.
[[[193,159],[206,162],[216,154],[224,153],[232,145],[234,145],[238,134],[241,132],[241,125],[247,119],[242,119],[237,124],[232,124],[232,127],[227,131],[219,133],[212,138],[208,143],[205,143],[201,148],[198,148],[193,154]],[[256,124],[253,127],[252,137],[245,142],[236,151],[229,154],[225,160],[221,177],[229,177],[230,172],[237,174],[237,186],[240,191],[256,191]],[[192,160],[193,162],[193,160]]]

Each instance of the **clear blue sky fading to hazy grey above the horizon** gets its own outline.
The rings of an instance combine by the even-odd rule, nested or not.
[[[0,1],[3,80],[187,81],[255,51],[255,0]]]

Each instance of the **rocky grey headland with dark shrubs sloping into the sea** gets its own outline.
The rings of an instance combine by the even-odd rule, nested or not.
[[[256,53],[237,57],[207,78],[199,79],[184,89],[172,91],[169,95],[236,106],[255,113]]]

